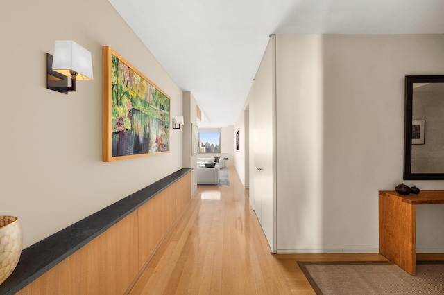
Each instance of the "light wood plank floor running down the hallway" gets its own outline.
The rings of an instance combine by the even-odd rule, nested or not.
[[[233,166],[229,187],[198,186],[129,294],[315,294],[296,263],[379,254],[273,255]]]

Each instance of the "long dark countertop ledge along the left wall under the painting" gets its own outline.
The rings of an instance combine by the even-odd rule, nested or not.
[[[0,285],[0,294],[15,294],[111,226],[171,186],[192,169],[183,168],[50,235],[22,251],[19,264]]]

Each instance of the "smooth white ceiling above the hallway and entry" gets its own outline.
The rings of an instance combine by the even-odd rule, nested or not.
[[[444,0],[109,0],[206,117],[234,125],[271,34],[444,33]]]

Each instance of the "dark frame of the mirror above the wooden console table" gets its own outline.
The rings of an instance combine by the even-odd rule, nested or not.
[[[405,76],[404,179],[441,180],[444,179],[444,173],[411,172],[411,123],[413,120],[413,83],[444,83],[444,75]]]

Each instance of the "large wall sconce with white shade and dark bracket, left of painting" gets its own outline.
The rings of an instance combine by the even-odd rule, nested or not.
[[[54,56],[46,53],[46,88],[67,94],[76,91],[76,80],[92,79],[91,53],[74,41],[56,40]]]

